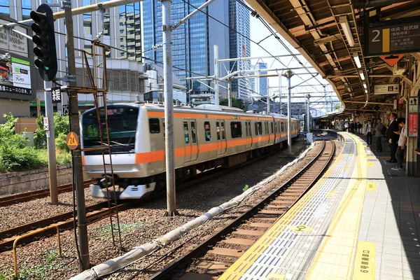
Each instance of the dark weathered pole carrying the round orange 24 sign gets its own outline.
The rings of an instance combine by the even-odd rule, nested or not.
[[[66,22],[67,37],[67,61],[70,77],[76,77],[76,59],[74,57],[73,15],[71,1],[64,1],[64,16]],[[76,86],[76,81],[70,82],[70,86]],[[69,97],[70,131],[80,135],[78,116],[78,95],[74,90],[70,91]],[[98,124],[101,125],[101,124]],[[80,147],[80,146],[79,146]],[[82,152],[80,148],[73,151],[73,185],[76,187],[77,197],[77,228],[78,245],[80,251],[80,271],[90,268],[89,244],[87,240],[87,222],[85,205],[85,188],[83,186]]]

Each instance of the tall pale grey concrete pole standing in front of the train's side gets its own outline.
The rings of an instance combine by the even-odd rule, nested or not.
[[[165,160],[167,181],[167,211],[165,216],[175,216],[175,158],[174,158],[174,92],[172,88],[172,24],[171,0],[162,2],[163,25],[163,87],[165,96]]]

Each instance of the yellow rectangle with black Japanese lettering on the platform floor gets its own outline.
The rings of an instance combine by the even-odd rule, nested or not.
[[[353,270],[353,280],[373,280],[376,262],[376,244],[359,241],[357,245],[356,264]]]

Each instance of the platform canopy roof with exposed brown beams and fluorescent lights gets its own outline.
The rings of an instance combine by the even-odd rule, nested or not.
[[[405,44],[407,48],[411,42],[402,41],[404,34],[396,34],[393,27],[388,28],[387,33],[379,26],[379,34],[369,28],[369,24],[383,25],[390,20],[396,26],[400,24],[398,19],[419,16],[420,1],[247,0],[247,3],[255,10],[254,16],[262,17],[328,80],[344,102],[346,111],[391,110],[394,100],[403,95],[402,80],[412,84],[407,69],[414,57],[420,59],[420,54],[405,50],[401,51],[404,52],[402,55],[395,56],[401,52],[392,51],[393,46],[391,52],[386,52],[389,47],[383,41],[393,44],[393,38],[401,38],[394,44]],[[407,23],[407,26],[414,36],[415,24]],[[372,36],[364,38],[365,34]],[[413,40],[416,39],[413,37]],[[367,55],[367,41],[379,42],[380,50],[370,45]],[[416,44],[416,47],[420,49],[420,45]],[[388,63],[379,57],[379,52],[384,52]]]

